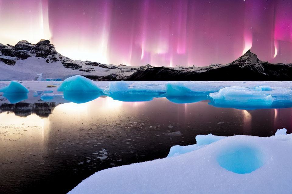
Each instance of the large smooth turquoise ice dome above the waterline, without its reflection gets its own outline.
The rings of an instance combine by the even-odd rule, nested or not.
[[[65,79],[60,87],[59,92],[97,92],[101,91],[94,82],[81,75],[75,75]]]

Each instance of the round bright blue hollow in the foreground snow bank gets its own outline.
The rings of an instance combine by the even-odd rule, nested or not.
[[[262,167],[266,157],[259,149],[248,145],[230,145],[217,156],[218,164],[238,174],[251,173]]]

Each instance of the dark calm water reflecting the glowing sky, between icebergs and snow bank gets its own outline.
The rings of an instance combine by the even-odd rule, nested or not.
[[[48,117],[43,111],[42,117],[0,113],[0,193],[67,193],[94,172],[164,158],[171,146],[195,144],[198,134],[271,136],[284,127],[292,132],[292,108],[217,108],[207,100],[100,97],[58,105]]]

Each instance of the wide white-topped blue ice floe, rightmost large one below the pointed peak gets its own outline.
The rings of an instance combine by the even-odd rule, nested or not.
[[[210,93],[210,97],[210,105],[238,109],[269,108],[274,100],[272,95],[266,95],[263,91],[241,86],[220,89]]]

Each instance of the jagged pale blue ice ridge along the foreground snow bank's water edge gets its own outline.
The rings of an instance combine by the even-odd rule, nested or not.
[[[179,156],[184,153],[192,152],[194,150],[200,149],[204,145],[208,145],[213,142],[217,142],[220,139],[224,139],[226,137],[224,136],[217,136],[217,135],[212,135],[211,133],[209,135],[197,135],[196,136],[196,141],[197,143],[194,145],[189,145],[189,146],[172,146],[169,150],[169,154],[167,157],[171,156]]]

